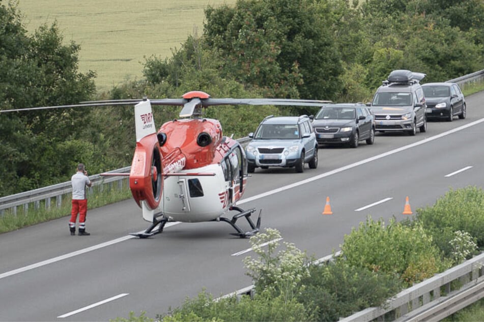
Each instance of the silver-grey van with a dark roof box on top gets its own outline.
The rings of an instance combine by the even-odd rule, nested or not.
[[[375,114],[375,130],[404,131],[410,135],[427,131],[425,97],[420,80],[422,73],[395,70],[383,81],[373,97],[371,109]]]

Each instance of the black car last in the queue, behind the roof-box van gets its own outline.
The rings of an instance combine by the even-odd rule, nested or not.
[[[466,118],[466,100],[455,83],[426,83],[422,85],[427,119],[440,118],[451,122],[454,116]]]

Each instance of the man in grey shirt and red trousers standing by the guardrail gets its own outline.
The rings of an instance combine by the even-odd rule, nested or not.
[[[88,212],[88,197],[86,195],[86,186],[92,185],[89,180],[88,172],[83,164],[77,165],[77,172],[72,176],[72,210],[71,220],[69,221],[69,230],[71,236],[76,234],[76,220],[79,214],[79,236],[89,236],[86,232],[86,214]]]

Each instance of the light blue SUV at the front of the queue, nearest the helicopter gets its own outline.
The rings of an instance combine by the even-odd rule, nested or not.
[[[318,142],[307,115],[266,117],[245,148],[247,172],[255,168],[295,167],[296,172],[318,167]]]

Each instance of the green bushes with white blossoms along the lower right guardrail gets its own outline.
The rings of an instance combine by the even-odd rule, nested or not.
[[[268,243],[281,235],[266,229],[250,238],[257,256],[244,259],[246,274],[254,283],[252,299],[248,295],[214,299],[202,291],[180,307],[157,315],[156,320],[337,321],[385,305],[402,289],[463,263],[483,248],[478,232],[484,224],[483,206],[484,190],[469,186],[449,190],[433,206],[417,209],[416,216],[407,221],[384,222],[368,216],[345,235],[341,254],[322,265],[312,264],[315,259],[293,243]],[[475,229],[465,230],[464,220],[475,223]],[[439,235],[439,231],[447,233]],[[477,321],[481,314],[473,307],[449,320]],[[155,319],[143,312],[116,319],[128,320]]]

